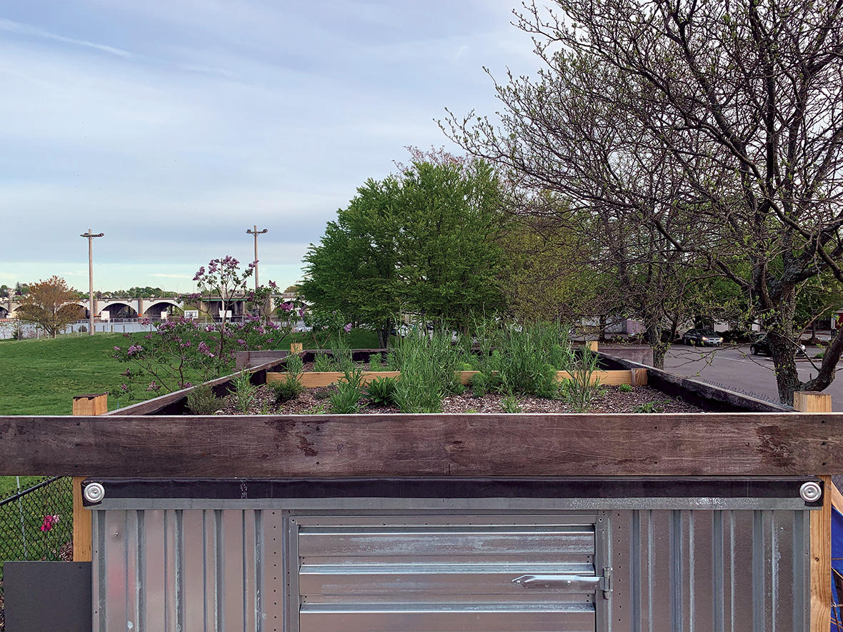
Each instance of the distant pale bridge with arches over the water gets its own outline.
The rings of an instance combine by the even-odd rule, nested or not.
[[[285,301],[292,301],[297,295],[293,292],[282,292],[277,295]],[[88,318],[88,300],[75,302],[85,310],[85,318]],[[241,316],[246,310],[246,297],[234,297],[228,302],[227,308],[232,316]],[[17,310],[20,307],[18,301],[12,298],[0,299],[0,319],[13,319],[17,317]],[[106,319],[159,319],[161,314],[173,313],[173,310],[198,308],[201,313],[218,318],[223,310],[223,299],[220,297],[203,297],[199,301],[183,301],[180,297],[156,297],[156,298],[112,298],[94,297],[94,318]]]

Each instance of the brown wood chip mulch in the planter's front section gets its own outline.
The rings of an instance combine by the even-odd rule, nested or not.
[[[330,414],[330,394],[336,392],[336,387],[308,388],[297,398],[284,404],[276,404],[271,388],[258,388],[255,400],[252,402],[249,415],[319,415]],[[475,397],[467,390],[461,395],[451,395],[443,399],[443,413],[502,413],[502,395],[486,394]],[[365,404],[366,400],[361,399]],[[519,400],[524,413],[572,413],[575,412],[570,404],[558,399],[544,399],[539,397],[525,397]],[[640,406],[645,410],[636,410]],[[383,415],[385,413],[400,413],[396,406],[366,405],[360,410],[362,414]],[[616,386],[604,387],[604,394],[595,399],[590,413],[699,413],[704,412],[684,399],[672,398],[656,388],[648,386],[633,387],[630,393],[620,391]],[[217,415],[242,415],[237,399],[228,395],[221,400]]]

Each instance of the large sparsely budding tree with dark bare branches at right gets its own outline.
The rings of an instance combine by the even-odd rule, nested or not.
[[[535,5],[518,16],[545,68],[497,85],[502,132],[452,117],[454,134],[589,209],[643,193],[642,227],[731,281],[767,329],[781,401],[826,388],[843,336],[801,381],[793,322],[801,283],[826,271],[843,282],[843,3],[556,5],[564,17]],[[577,183],[588,156],[605,172]],[[638,190],[636,165],[661,185]]]

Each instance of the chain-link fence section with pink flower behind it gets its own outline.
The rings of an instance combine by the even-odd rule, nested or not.
[[[73,559],[73,487],[67,476],[37,480],[0,499],[0,632],[3,562]]]

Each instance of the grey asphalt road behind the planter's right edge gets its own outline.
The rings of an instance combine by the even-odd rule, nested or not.
[[[816,347],[808,347],[808,356],[818,351]],[[815,362],[819,364],[819,361]],[[773,362],[766,356],[750,356],[749,345],[722,349],[673,345],[664,359],[664,368],[738,393],[778,400]],[[840,369],[843,369],[843,364],[838,371]],[[816,375],[816,369],[810,362],[797,362],[797,370],[803,379]],[[838,373],[835,382],[824,393],[831,395],[832,409],[843,412],[843,374]]]

